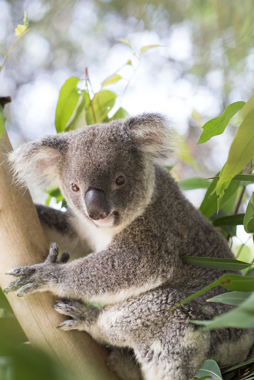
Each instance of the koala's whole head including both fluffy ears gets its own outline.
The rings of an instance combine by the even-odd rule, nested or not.
[[[20,182],[58,185],[79,217],[117,226],[149,204],[153,162],[172,155],[172,142],[163,116],[143,114],[29,142],[10,161]]]

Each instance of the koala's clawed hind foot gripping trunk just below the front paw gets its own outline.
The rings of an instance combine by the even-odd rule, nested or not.
[[[56,304],[52,306],[58,313],[69,315],[73,319],[68,319],[60,323],[57,328],[63,330],[80,330],[87,331],[88,327],[93,325],[99,314],[99,309],[95,306],[86,306],[78,301],[59,298]]]

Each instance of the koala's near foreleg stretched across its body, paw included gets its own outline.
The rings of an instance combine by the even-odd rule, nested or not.
[[[56,251],[56,244],[52,244],[45,263],[9,271],[10,275],[23,277],[7,285],[5,292],[18,290],[17,295],[23,296],[50,290],[61,297],[107,304],[158,287],[165,282],[165,273],[170,277],[175,272],[173,263],[158,268],[156,257],[146,256],[135,246],[113,245],[67,264],[56,260]]]

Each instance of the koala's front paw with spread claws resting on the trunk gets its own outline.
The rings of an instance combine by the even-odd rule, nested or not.
[[[59,259],[57,256],[58,245],[53,243],[44,263],[11,269],[6,274],[21,278],[10,282],[3,291],[8,293],[18,290],[17,296],[22,297],[24,294],[34,293],[39,288],[47,287],[56,282],[54,267],[56,264],[66,263],[69,259],[69,253],[64,252]]]

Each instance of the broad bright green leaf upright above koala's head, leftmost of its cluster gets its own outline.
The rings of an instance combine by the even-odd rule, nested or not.
[[[81,79],[72,76],[62,86],[59,92],[56,106],[55,127],[56,131],[63,132],[76,116],[76,111],[85,97],[84,93],[78,93],[77,83]]]

